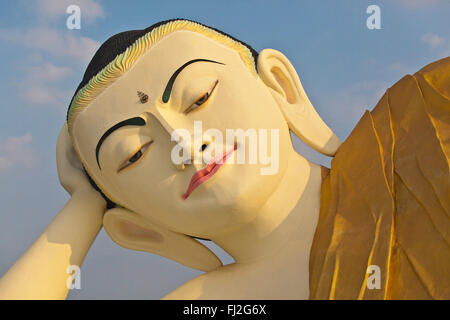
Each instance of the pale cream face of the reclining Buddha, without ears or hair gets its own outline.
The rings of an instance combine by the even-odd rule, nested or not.
[[[264,175],[267,164],[248,161],[255,147],[249,139],[227,143],[204,135],[196,144],[202,147],[194,148],[195,121],[203,132],[215,129],[223,137],[227,129],[255,130],[257,150],[265,143],[269,154],[278,153],[278,170]],[[171,136],[180,129],[191,136],[185,148],[192,157],[211,149],[229,157],[187,197],[192,177],[211,158],[174,163],[178,142]],[[260,136],[264,131],[268,139]],[[259,76],[235,50],[191,31],[176,31],[149,49],[77,115],[72,136],[87,171],[111,200],[169,230],[201,238],[252,221],[293,151],[287,123]],[[246,155],[244,163],[237,161],[238,152]]]

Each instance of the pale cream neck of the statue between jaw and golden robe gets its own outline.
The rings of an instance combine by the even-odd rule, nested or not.
[[[321,183],[320,166],[292,150],[282,181],[258,216],[212,240],[236,263],[271,259],[290,241],[299,244],[297,254],[309,258],[319,218]]]

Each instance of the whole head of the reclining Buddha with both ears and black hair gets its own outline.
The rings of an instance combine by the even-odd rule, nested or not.
[[[67,124],[86,173],[114,207],[104,216],[110,237],[200,270],[221,263],[195,238],[232,232],[258,215],[295,152],[290,130],[326,155],[340,144],[282,53],[258,54],[183,19],[108,39],[72,98]],[[205,134],[194,133],[198,124]],[[276,170],[232,162],[255,142],[208,134],[230,129],[256,133],[258,147],[276,153]],[[200,161],[174,161],[177,147]],[[204,181],[193,185],[194,178]]]

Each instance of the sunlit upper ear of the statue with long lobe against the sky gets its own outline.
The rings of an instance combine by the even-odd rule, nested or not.
[[[333,156],[341,141],[312,106],[289,60],[279,51],[264,49],[258,55],[258,74],[270,88],[289,129],[311,148]]]

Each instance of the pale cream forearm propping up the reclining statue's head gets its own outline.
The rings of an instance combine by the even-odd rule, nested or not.
[[[104,211],[99,194],[75,193],[0,279],[0,299],[65,299],[67,268],[83,263],[101,229]]]

